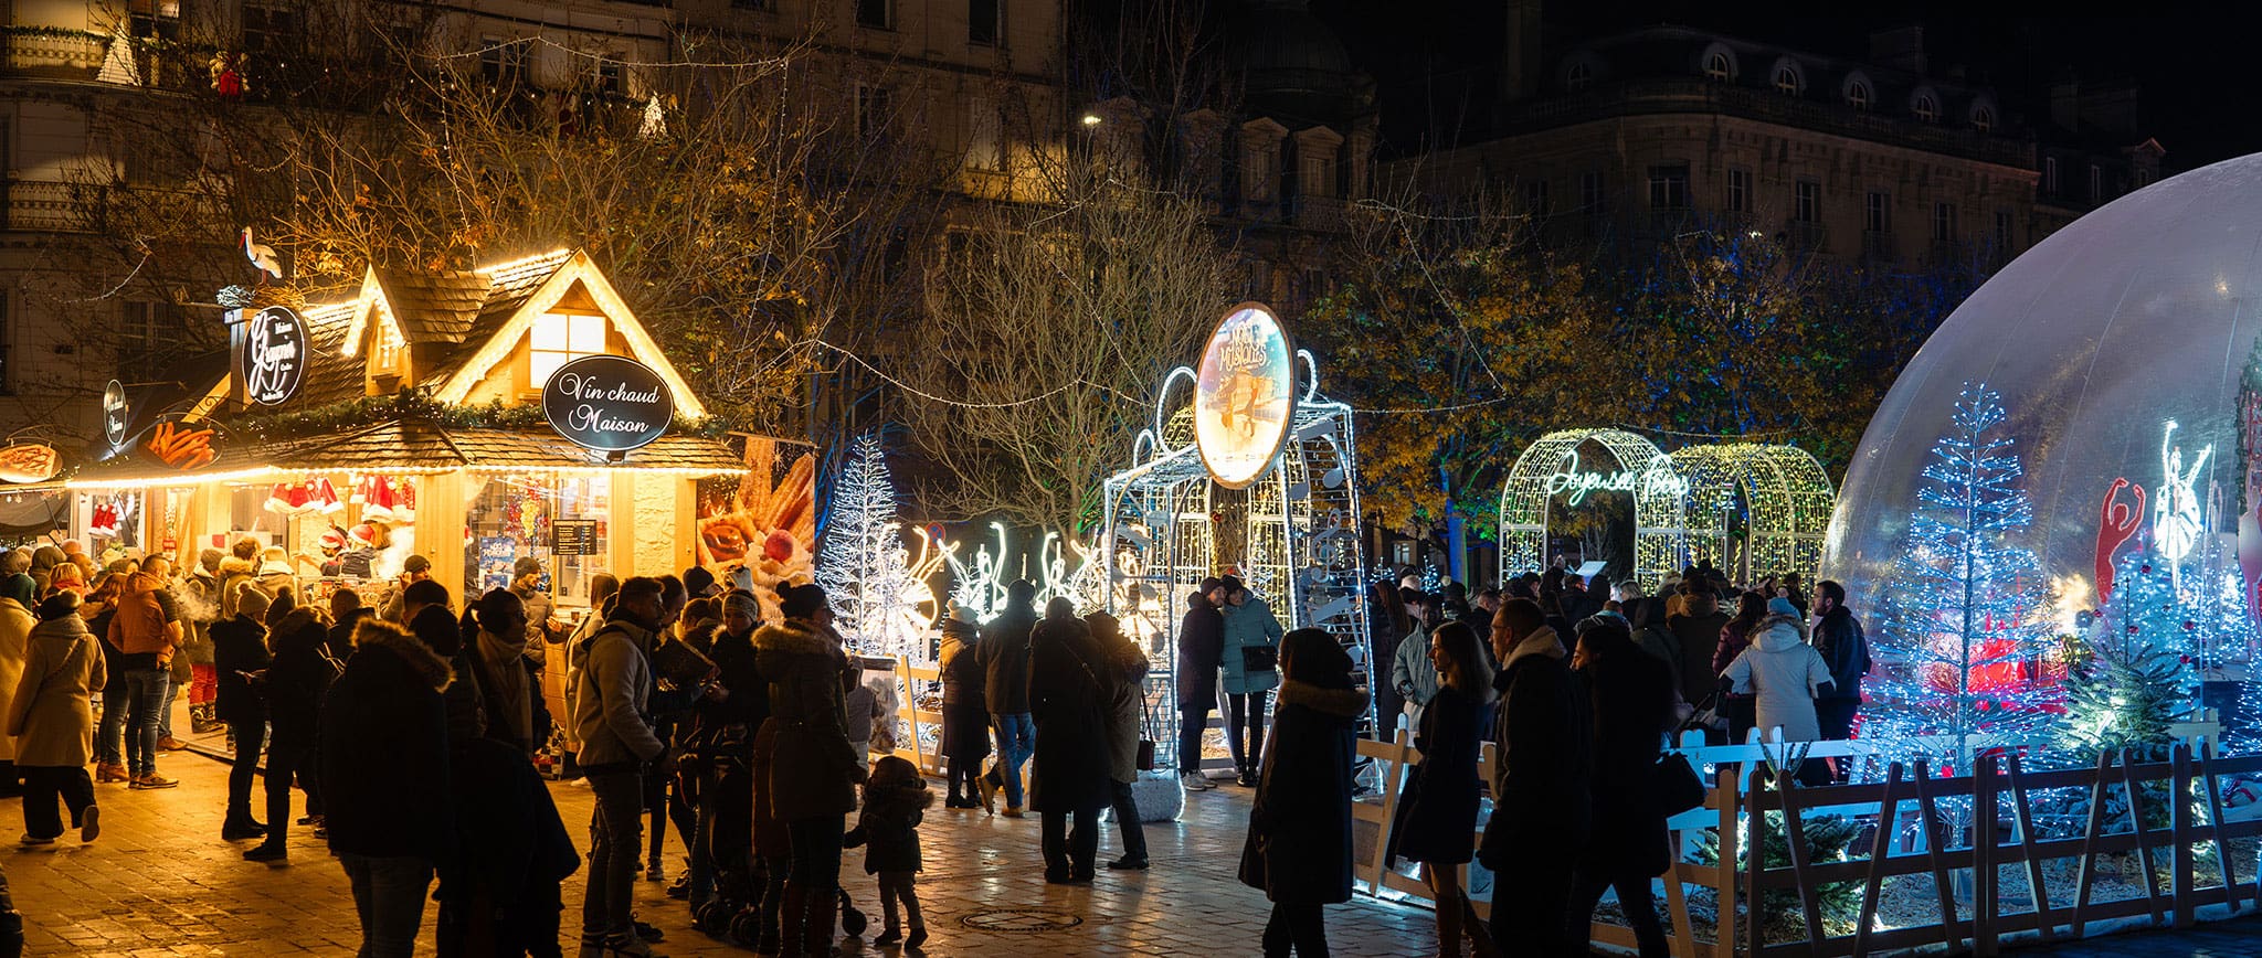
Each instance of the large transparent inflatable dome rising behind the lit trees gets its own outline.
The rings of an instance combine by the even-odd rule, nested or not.
[[[2248,554],[2251,587],[2262,569],[2253,526],[2262,490],[2246,488],[2239,423],[2242,404],[2248,416],[2262,409],[2255,389],[2242,391],[2257,330],[2262,154],[2081,217],[1979,287],[1893,382],[1846,472],[1823,574],[1841,578],[1857,608],[1880,603],[1893,556],[1907,547],[1929,450],[1970,382],[2002,393],[2002,429],[2034,502],[2034,524],[2009,540],[2036,551],[2061,610],[2097,608],[2092,569],[2108,495],[2124,508],[2108,545],[2133,533],[2126,549],[2135,549],[2156,533],[2162,445],[2181,452],[2178,479],[2192,479],[2201,545],[2226,558]],[[2172,438],[2169,420],[2178,425]],[[2203,463],[2201,450],[2212,450]],[[2144,488],[2142,513],[2131,508],[2131,488],[2115,493],[2119,479]],[[2142,526],[2131,529],[2138,517]]]

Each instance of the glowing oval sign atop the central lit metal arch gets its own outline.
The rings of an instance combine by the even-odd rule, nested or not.
[[[1287,330],[1262,303],[1242,303],[1201,350],[1194,445],[1224,488],[1258,481],[1296,418],[1296,359]]]

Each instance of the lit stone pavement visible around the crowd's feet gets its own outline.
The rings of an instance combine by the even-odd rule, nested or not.
[[[181,728],[185,730],[185,716]],[[0,850],[25,913],[34,956],[292,956],[353,953],[360,926],[346,877],[308,829],[292,829],[290,865],[258,865],[240,859],[251,843],[222,843],[219,820],[226,798],[226,766],[208,757],[174,752],[158,768],[179,777],[170,791],[97,786],[102,838],[79,845],[70,831],[48,850]],[[586,834],[588,789],[554,784],[568,831]],[[0,827],[9,836],[20,822],[20,802],[0,802]],[[1235,881],[1249,791],[1217,789],[1190,795],[1183,822],[1147,827],[1154,859],[1149,872],[1099,872],[1093,886],[1047,886],[1038,856],[1038,820],[986,818],[979,809],[930,811],[921,829],[927,870],[918,897],[932,940],[927,956],[1249,956],[1258,953],[1269,904],[1264,895]],[[1102,861],[1115,856],[1115,829],[1106,827]],[[667,838],[670,879],[683,845]],[[873,949],[880,904],[862,852],[844,861],[844,883],[871,915],[860,953]],[[638,915],[667,931],[658,951],[670,956],[746,956],[728,942],[692,931],[681,902],[670,902],[665,883],[638,883]],[[568,944],[579,926],[581,874],[566,879]],[[1031,908],[1045,915],[1081,917],[1063,931],[977,929],[984,913]],[[432,947],[434,906],[425,908],[418,953]],[[973,920],[973,924],[968,924]],[[1328,935],[1341,956],[1427,953],[1430,913],[1353,899],[1328,908]],[[568,956],[572,949],[568,947]],[[855,953],[855,951],[851,951]]]

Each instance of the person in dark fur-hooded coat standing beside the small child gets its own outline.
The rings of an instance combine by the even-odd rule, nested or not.
[[[756,829],[783,827],[789,847],[783,953],[823,956],[839,913],[841,825],[866,770],[848,743],[851,664],[826,590],[789,585],[778,596],[785,621],[753,633],[756,667],[769,678],[769,718],[753,739]]]

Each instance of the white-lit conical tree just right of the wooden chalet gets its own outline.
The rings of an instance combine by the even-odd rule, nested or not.
[[[896,522],[896,484],[875,434],[857,436],[832,486],[832,524],[817,551],[817,585],[832,601],[832,628],[848,651],[921,655],[923,606],[934,601],[912,574],[912,554]]]

